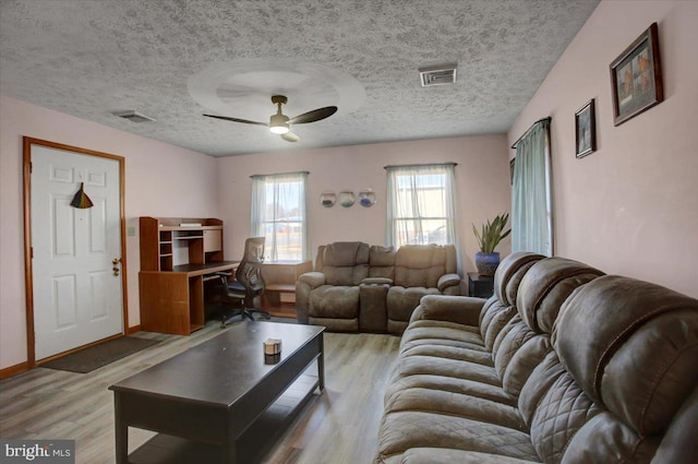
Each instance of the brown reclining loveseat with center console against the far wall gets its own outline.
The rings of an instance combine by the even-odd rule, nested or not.
[[[301,323],[332,331],[401,334],[425,295],[460,295],[453,246],[393,248],[344,241],[317,249],[296,283]]]

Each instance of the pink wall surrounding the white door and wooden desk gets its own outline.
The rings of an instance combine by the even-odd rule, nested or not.
[[[125,158],[129,324],[140,323],[137,217],[216,216],[216,158],[0,97],[0,369],[26,361],[22,136]]]

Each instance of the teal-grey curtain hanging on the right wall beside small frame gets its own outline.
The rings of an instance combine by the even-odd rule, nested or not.
[[[550,119],[516,144],[512,187],[512,251],[553,255]]]

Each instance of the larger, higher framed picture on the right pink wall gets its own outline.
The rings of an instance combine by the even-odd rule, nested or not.
[[[614,126],[664,99],[657,23],[611,63],[611,85]]]

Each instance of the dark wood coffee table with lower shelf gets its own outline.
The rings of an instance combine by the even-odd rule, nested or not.
[[[316,389],[324,389],[325,328],[241,322],[118,382],[117,464],[258,461]],[[281,338],[277,364],[263,342]],[[317,360],[317,377],[305,372]],[[129,427],[159,432],[129,454]]]

